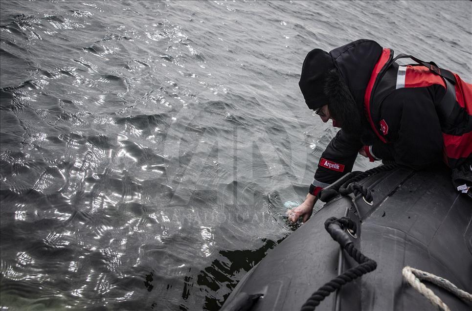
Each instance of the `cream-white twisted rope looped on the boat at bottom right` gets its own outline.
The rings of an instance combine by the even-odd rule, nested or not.
[[[439,276],[408,266],[403,268],[402,274],[409,285],[419,291],[433,305],[438,306],[444,311],[450,311],[449,307],[441,300],[441,298],[436,296],[436,294],[434,294],[431,289],[428,289],[426,285],[421,283],[421,280],[431,282],[439,287],[442,287],[443,289],[447,289],[451,293],[455,294],[457,297],[461,298],[466,302],[472,302],[472,295],[470,293],[462,289],[458,289],[450,281],[443,279]]]

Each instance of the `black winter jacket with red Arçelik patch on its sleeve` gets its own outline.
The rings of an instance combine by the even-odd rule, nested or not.
[[[330,52],[345,86],[361,110],[365,109],[366,89],[382,51],[374,41],[358,40]],[[393,55],[393,51],[391,53]],[[338,96],[337,89],[331,92],[328,97]],[[359,133],[339,130],[321,155],[309,192],[317,195],[327,184],[350,172],[362,146],[369,146],[366,151],[371,153],[372,160],[394,160],[413,169],[442,163],[444,125],[440,122],[437,107],[445,94],[444,85],[431,84],[395,89],[384,93],[382,98],[375,98],[369,111],[374,111],[376,122],[381,120],[378,132],[383,132],[386,142],[374,133],[367,111],[362,111],[364,119]],[[470,113],[460,112],[464,115],[462,118],[470,118],[472,122]],[[466,157],[471,159],[470,155]]]

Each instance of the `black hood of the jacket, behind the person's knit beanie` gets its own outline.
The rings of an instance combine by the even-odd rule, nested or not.
[[[335,66],[358,105],[364,105],[365,89],[381,54],[382,46],[366,39],[330,51]]]

